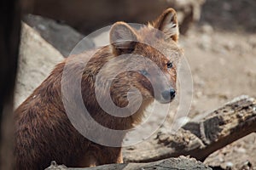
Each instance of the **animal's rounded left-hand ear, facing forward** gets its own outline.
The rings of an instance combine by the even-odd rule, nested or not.
[[[117,54],[131,53],[137,44],[137,33],[125,22],[116,22],[110,30],[109,37]]]

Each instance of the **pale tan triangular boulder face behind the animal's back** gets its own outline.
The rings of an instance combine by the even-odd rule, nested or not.
[[[61,53],[40,37],[37,31],[22,24],[15,108],[32,94],[62,59]]]

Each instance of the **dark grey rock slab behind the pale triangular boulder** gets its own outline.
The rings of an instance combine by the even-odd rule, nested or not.
[[[25,22],[32,26],[44,39],[58,49],[62,55],[67,57],[73,48],[79,43],[79,53],[85,49],[94,48],[94,42],[84,37],[72,27],[63,25],[38,15],[27,14],[24,18]],[[77,49],[77,48],[76,48]]]

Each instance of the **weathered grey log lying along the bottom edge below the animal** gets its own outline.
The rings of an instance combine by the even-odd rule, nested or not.
[[[187,170],[210,170],[212,168],[205,166],[200,161],[196,161],[192,158],[187,158],[184,156],[180,156],[178,158],[169,158],[161,161],[154,161],[150,163],[123,163],[123,164],[109,164],[103,165],[99,167],[87,167],[87,168],[67,168],[65,166],[58,166],[55,163],[50,167],[46,168],[46,170],[167,170],[167,169],[187,169]]]

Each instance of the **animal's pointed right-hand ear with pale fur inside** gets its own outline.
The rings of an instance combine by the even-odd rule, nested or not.
[[[154,28],[163,31],[166,39],[172,38],[173,41],[177,42],[178,39],[178,25],[177,25],[177,14],[173,8],[167,8],[160,17],[154,21]]]

